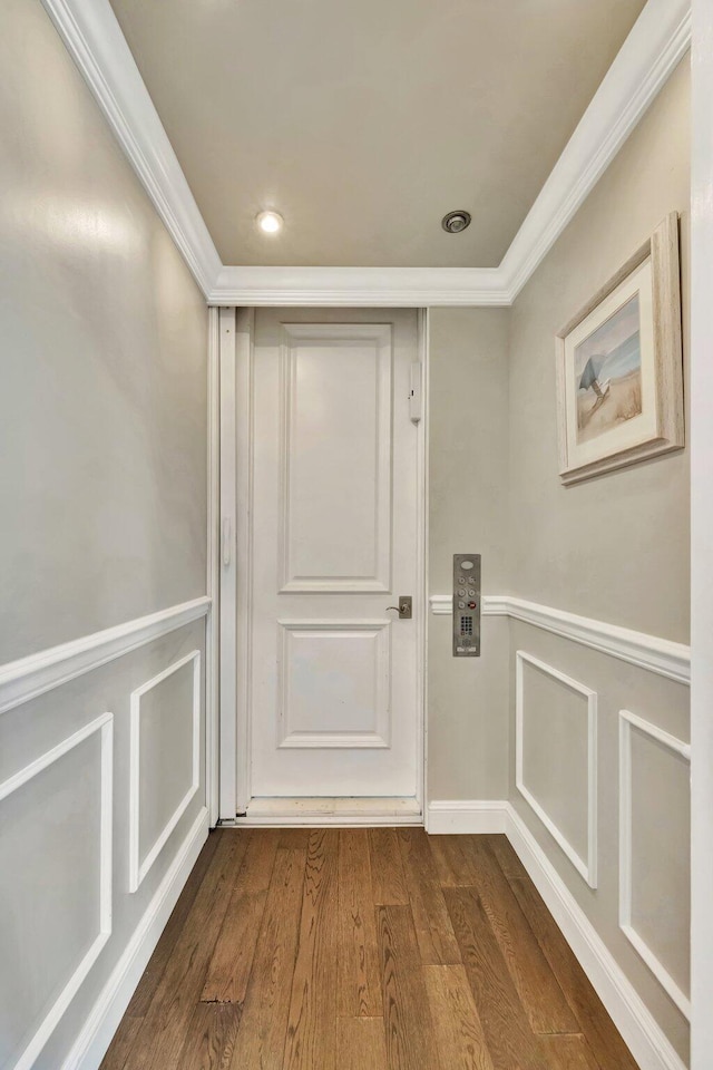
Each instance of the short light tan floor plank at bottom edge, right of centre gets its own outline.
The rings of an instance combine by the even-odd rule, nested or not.
[[[424,966],[423,977],[441,1064],[494,1070],[465,969]]]

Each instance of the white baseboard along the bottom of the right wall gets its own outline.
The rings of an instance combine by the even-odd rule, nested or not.
[[[641,1070],[685,1070],[671,1041],[512,806],[508,808],[507,835]]]

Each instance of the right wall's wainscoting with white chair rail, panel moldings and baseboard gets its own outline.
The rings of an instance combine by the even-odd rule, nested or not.
[[[684,1070],[690,650],[511,596],[482,612],[486,654],[509,619],[509,797],[431,800],[428,830],[505,831],[643,1070]]]

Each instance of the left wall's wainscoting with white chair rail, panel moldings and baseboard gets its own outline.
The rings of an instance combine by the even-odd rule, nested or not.
[[[95,1070],[205,842],[209,612],[0,669],[8,1070]]]

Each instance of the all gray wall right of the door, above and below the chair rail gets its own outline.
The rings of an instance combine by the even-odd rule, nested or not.
[[[564,488],[558,477],[555,334],[672,211],[681,215],[688,359],[687,59],[509,310],[430,312],[431,594],[450,557],[484,555],[484,592],[688,641],[688,451]],[[688,739],[688,689],[529,624],[486,617],[479,660],[450,656],[449,616],[431,616],[429,799],[509,798],[681,1057],[685,1016],[619,927],[619,711]],[[524,786],[586,855],[587,759],[598,759],[598,887],[575,868],[516,786],[517,652]],[[555,673],[596,693],[587,704]],[[678,986],[688,971],[688,768],[634,729],[632,922]]]

